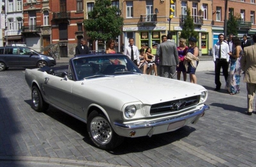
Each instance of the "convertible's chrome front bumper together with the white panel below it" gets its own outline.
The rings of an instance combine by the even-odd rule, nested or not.
[[[192,110],[189,113],[175,116],[169,119],[163,119],[159,121],[152,122],[138,122],[132,124],[123,124],[119,122],[114,122],[114,130],[120,136],[126,137],[140,137],[140,136],[149,136],[153,134],[166,133],[174,131],[188,125],[190,123],[198,122],[199,118],[204,115],[204,111],[208,110],[208,105],[203,105],[196,110]],[[131,136],[131,133],[135,133],[134,136]]]

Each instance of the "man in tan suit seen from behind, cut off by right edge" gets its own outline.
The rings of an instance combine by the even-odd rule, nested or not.
[[[247,114],[252,115],[253,113],[253,98],[256,91],[256,33],[253,34],[254,44],[247,46],[243,50],[241,57],[241,67],[244,71],[244,80],[247,88]]]

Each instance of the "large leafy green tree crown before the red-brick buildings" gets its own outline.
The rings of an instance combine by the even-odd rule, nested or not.
[[[92,40],[115,39],[122,34],[123,17],[116,6],[111,6],[111,0],[95,0],[93,10],[89,11],[88,19],[84,20],[84,29]]]

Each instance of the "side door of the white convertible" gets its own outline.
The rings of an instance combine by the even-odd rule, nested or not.
[[[75,81],[48,74],[45,77],[44,92],[52,104],[73,113],[72,86]]]

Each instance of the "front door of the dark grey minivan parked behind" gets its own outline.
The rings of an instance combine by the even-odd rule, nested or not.
[[[38,55],[28,48],[19,47],[20,64],[24,67],[35,67],[38,62]],[[33,55],[31,55],[31,52]]]

